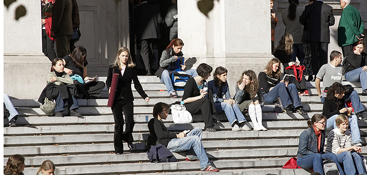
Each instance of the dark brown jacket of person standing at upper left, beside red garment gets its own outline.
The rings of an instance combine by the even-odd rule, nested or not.
[[[72,9],[71,0],[57,0],[53,4],[51,31],[55,32],[55,37],[73,35]]]

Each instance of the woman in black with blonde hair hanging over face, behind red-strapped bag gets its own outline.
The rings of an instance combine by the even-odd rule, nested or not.
[[[278,58],[281,61],[281,63],[283,64],[284,74],[288,74],[288,75],[294,75],[293,69],[286,69],[288,66],[300,65],[299,62],[293,61],[292,47],[293,47],[293,37],[291,34],[286,33],[282,36],[281,41],[279,41],[279,46],[273,52],[273,55],[276,58]],[[300,96],[310,95],[309,91],[307,90],[306,80],[303,75],[300,81],[294,78],[294,81],[292,83],[296,85],[297,89],[300,92],[299,94]]]

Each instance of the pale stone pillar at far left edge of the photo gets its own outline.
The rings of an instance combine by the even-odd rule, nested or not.
[[[15,20],[15,9],[27,13]],[[42,53],[41,1],[18,0],[4,6],[4,93],[38,99],[46,86],[51,62]]]

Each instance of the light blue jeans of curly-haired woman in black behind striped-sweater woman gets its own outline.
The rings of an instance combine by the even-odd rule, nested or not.
[[[326,130],[331,130],[334,128],[338,128],[335,124],[335,118],[337,118],[339,115],[335,114],[327,119],[326,121]],[[358,127],[358,118],[356,115],[351,115],[348,117],[349,125],[350,125],[350,131],[352,132],[352,142],[354,143],[362,143],[362,140],[360,139],[360,133],[359,133],[359,127]]]

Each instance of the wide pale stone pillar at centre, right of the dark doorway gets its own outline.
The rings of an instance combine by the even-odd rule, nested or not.
[[[268,0],[220,0],[208,17],[196,0],[178,0],[178,33],[184,41],[186,58],[196,57],[194,67],[205,62],[215,69],[228,69],[232,96],[241,73],[258,74],[273,56],[270,54],[270,2]],[[193,62],[187,59],[189,62]]]

